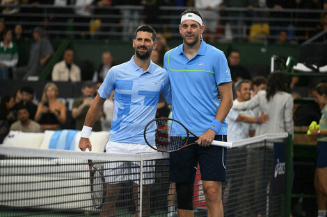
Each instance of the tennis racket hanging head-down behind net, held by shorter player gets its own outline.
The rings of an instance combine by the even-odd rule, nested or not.
[[[101,209],[106,196],[106,181],[104,180],[103,172],[99,171],[90,159],[88,159],[88,166],[90,168],[90,187],[93,206]]]

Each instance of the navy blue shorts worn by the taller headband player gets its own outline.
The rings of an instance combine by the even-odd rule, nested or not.
[[[196,141],[189,138],[189,144]],[[226,135],[216,135],[214,140],[227,141]],[[202,147],[197,144],[170,153],[170,181],[177,183],[193,182],[198,163],[201,179],[223,182],[226,180],[227,150],[221,146]]]

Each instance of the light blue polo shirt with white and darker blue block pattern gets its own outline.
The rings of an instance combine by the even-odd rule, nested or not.
[[[144,144],[145,125],[155,119],[160,92],[170,103],[168,73],[150,62],[147,71],[138,67],[134,56],[118,66],[112,67],[98,89],[101,98],[108,98],[115,90],[115,106],[109,141]]]

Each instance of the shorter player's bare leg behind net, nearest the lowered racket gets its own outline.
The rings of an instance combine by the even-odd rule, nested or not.
[[[118,200],[119,191],[122,184],[106,184],[106,199],[101,208],[100,216],[115,216],[115,202]]]

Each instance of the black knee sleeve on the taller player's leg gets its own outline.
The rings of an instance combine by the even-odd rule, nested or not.
[[[193,182],[176,183],[177,208],[193,210]]]

